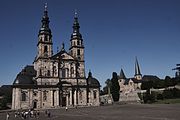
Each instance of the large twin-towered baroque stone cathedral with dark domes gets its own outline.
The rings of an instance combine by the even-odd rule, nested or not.
[[[33,65],[19,72],[12,85],[12,109],[98,106],[100,83],[91,72],[87,78],[85,75],[84,43],[77,13],[69,51],[63,44],[61,50],[53,54],[49,22],[46,5]]]

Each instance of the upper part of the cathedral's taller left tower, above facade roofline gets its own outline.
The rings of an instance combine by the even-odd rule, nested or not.
[[[44,15],[42,17],[42,25],[39,30],[38,34],[38,54],[36,57],[37,59],[41,58],[49,58],[53,54],[52,49],[52,35],[51,35],[51,29],[49,28],[49,17],[48,17],[48,11],[47,11],[47,4],[45,5]]]

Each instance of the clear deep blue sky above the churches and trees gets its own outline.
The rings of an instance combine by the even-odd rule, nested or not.
[[[74,10],[85,43],[86,74],[102,86],[123,68],[134,76],[135,56],[143,75],[174,76],[180,63],[179,0],[1,0],[0,85],[12,84],[32,64],[44,3],[48,3],[54,53],[69,48]]]

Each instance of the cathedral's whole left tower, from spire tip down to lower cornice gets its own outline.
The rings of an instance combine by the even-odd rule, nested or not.
[[[36,79],[38,84],[50,84],[48,78],[52,77],[51,60],[53,55],[53,43],[51,29],[49,28],[49,17],[47,4],[44,7],[44,14],[41,20],[41,28],[38,34],[38,53],[34,60],[34,69],[37,71]],[[47,78],[46,80],[42,78]]]

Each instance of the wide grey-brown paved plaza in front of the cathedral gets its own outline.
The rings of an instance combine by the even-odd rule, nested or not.
[[[99,107],[78,107],[50,109],[51,118],[40,112],[39,118],[27,120],[180,120],[180,104],[124,104]],[[15,118],[10,112],[9,120]],[[6,112],[0,113],[0,120],[6,120]]]

